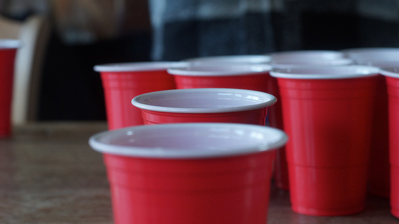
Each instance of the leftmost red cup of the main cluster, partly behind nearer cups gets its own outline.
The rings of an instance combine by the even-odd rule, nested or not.
[[[141,112],[132,107],[132,98],[149,92],[176,89],[170,67],[182,62],[137,62],[96,65],[104,88],[108,129],[143,124]]]

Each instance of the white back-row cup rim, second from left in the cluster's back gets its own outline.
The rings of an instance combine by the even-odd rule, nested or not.
[[[187,58],[182,61],[190,63],[215,63],[215,64],[262,64],[271,61],[268,55],[219,55],[208,57]]]

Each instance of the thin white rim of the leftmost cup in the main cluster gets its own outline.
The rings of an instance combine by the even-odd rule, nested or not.
[[[171,67],[186,66],[187,62],[124,62],[95,65],[96,72],[135,72],[135,71],[158,71],[167,70]]]

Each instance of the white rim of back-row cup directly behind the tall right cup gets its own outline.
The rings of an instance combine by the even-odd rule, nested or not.
[[[312,59],[339,59],[344,57],[344,53],[332,50],[297,50],[280,51],[268,54],[273,60],[312,60]]]

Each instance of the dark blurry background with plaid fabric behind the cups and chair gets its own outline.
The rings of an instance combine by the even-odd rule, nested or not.
[[[0,0],[50,18],[40,120],[105,119],[102,63],[399,47],[398,0]]]

